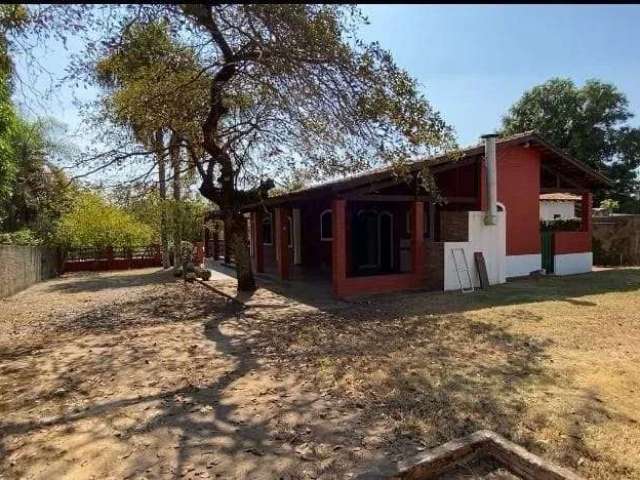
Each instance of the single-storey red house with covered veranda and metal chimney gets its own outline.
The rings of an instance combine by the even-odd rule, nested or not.
[[[455,160],[414,162],[405,178],[378,169],[247,206],[254,270],[330,279],[338,297],[477,286],[476,252],[491,284],[543,265],[590,271],[591,192],[609,180],[535,133],[483,139]],[[425,163],[440,202],[416,180]],[[543,248],[539,199],[552,192],[580,196],[582,224]]]

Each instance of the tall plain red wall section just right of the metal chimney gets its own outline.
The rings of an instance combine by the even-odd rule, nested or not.
[[[507,209],[507,255],[540,253],[540,153],[498,146],[497,164],[498,201]]]

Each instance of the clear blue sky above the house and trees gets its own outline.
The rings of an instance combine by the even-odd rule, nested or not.
[[[371,22],[363,37],[391,50],[419,80],[461,145],[496,129],[526,89],[554,76],[578,84],[588,78],[614,83],[639,117],[632,124],[640,125],[639,6],[367,5],[363,10]],[[54,76],[63,74],[67,53],[60,46],[35,53]],[[44,77],[37,83],[41,89],[49,85]],[[85,99],[94,93],[74,91]],[[45,103],[50,115],[82,130],[71,92],[66,87]],[[28,103],[36,108],[32,94]]]

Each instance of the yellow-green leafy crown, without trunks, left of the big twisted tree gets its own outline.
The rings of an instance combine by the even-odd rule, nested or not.
[[[104,115],[138,139],[163,128],[193,133],[206,115],[209,85],[198,70],[193,52],[171,38],[166,22],[134,24],[96,65],[96,80],[109,92]]]

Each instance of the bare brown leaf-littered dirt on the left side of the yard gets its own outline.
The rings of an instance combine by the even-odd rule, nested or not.
[[[197,284],[73,275],[0,308],[0,478],[344,478],[362,463],[351,410]]]

